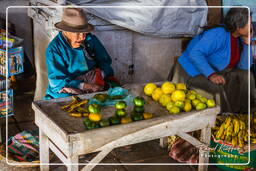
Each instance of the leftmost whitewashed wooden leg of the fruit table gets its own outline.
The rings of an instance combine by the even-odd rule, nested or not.
[[[47,135],[39,129],[39,145],[40,145],[40,170],[49,170],[49,139]]]

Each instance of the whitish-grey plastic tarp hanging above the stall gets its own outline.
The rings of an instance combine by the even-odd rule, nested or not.
[[[203,8],[207,6],[205,0],[70,0],[70,2],[79,6],[98,6],[99,8],[92,7],[85,10],[111,24],[160,37],[197,34],[200,26],[205,25],[208,12],[207,8]]]

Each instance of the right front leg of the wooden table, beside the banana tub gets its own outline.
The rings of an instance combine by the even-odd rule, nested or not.
[[[201,142],[209,145],[211,140],[211,127],[207,127],[201,130]],[[199,150],[199,164],[209,163],[209,151]],[[208,165],[199,165],[198,171],[207,171]]]

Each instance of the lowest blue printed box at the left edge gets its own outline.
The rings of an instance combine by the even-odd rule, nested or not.
[[[8,101],[7,100],[8,97]],[[0,91],[0,118],[13,115],[13,90]]]

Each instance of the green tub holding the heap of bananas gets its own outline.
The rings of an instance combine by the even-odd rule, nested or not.
[[[237,148],[223,142],[211,141],[213,152],[210,153],[212,163],[223,164],[217,165],[218,168],[227,171],[254,170],[256,168],[256,150],[250,151],[250,163],[248,163],[248,152],[240,154]],[[241,163],[241,165],[232,165],[232,163]]]

